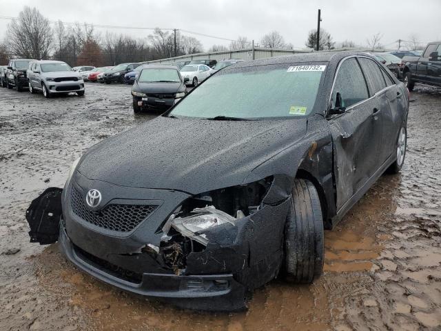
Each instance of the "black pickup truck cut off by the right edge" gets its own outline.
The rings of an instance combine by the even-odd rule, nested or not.
[[[403,78],[409,91],[415,83],[441,87],[441,41],[429,43],[421,57],[403,57]]]

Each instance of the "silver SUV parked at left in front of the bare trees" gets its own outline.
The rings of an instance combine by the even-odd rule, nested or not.
[[[46,98],[52,94],[76,92],[84,95],[84,81],[68,63],[62,61],[32,61],[27,71],[29,91],[43,92]]]

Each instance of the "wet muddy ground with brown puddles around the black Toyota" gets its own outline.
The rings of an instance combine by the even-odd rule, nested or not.
[[[325,237],[325,274],[276,280],[247,312],[178,310],[123,293],[29,243],[25,210],[94,143],[152,119],[128,86],[85,97],[0,90],[0,330],[441,330],[441,91],[411,96],[407,157]]]

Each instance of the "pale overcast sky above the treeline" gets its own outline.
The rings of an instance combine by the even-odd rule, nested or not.
[[[351,40],[365,45],[376,32],[382,33],[380,43],[391,49],[396,48],[394,41],[409,40],[412,34],[423,43],[441,39],[441,0],[0,0],[0,15],[17,17],[23,6],[36,7],[50,20],[180,28],[227,39],[240,35],[256,43],[265,33],[277,30],[295,48],[305,47],[309,30],[316,28],[320,8],[322,28],[337,42]],[[0,38],[5,37],[8,22],[0,19]],[[138,38],[151,33],[110,30]],[[229,44],[193,37],[201,40],[205,49],[214,43]]]

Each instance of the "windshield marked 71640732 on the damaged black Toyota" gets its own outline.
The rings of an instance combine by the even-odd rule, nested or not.
[[[198,86],[169,116],[304,117],[314,108],[325,68],[324,63],[227,68]]]

